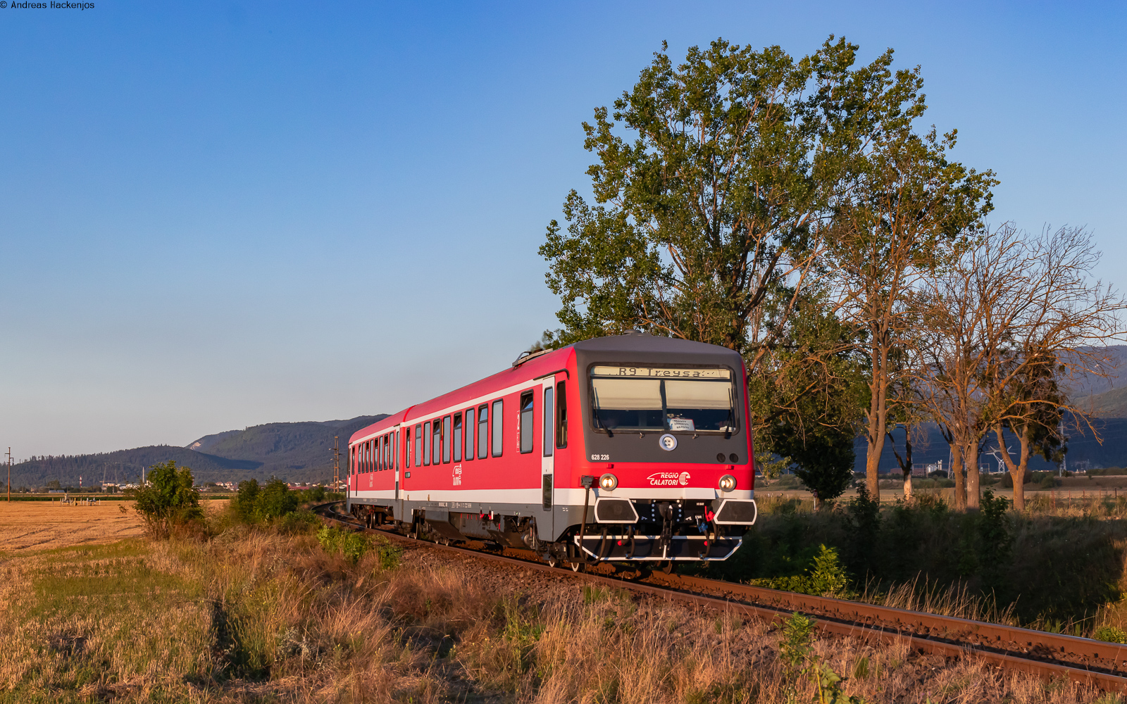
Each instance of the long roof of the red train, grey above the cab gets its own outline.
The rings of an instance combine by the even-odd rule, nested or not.
[[[569,366],[568,363],[571,356],[579,357],[580,366],[586,366],[591,362],[632,360],[635,363],[659,363],[665,360],[669,354],[686,354],[692,355],[695,360],[703,364],[726,364],[743,368],[743,357],[740,357],[739,353],[718,345],[657,337],[637,331],[625,335],[592,338],[542,354],[520,357],[507,369],[491,374],[460,389],[449,391],[440,396],[428,399],[421,403],[410,406],[378,422],[361,428],[348,438],[348,443],[352,444],[361,438],[379,435],[402,424],[408,417],[426,416],[431,411],[438,411],[454,406],[460,400],[487,395],[491,390],[505,389],[514,383],[520,383],[522,380],[531,381],[565,369]]]

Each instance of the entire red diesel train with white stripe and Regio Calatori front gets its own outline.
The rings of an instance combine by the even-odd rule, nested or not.
[[[348,508],[550,563],[724,560],[755,522],[731,349],[632,332],[523,356],[352,436]]]

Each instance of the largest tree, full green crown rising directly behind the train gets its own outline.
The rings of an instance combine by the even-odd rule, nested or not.
[[[917,73],[894,73],[891,50],[863,65],[857,51],[829,37],[795,59],[717,39],[675,65],[663,46],[584,123],[594,203],[573,190],[566,228],[553,220],[540,249],[562,301],[549,344],[641,329],[736,349],[753,377],[791,394],[752,394],[758,449],[809,449],[814,466],[832,446],[837,476],[852,456],[840,402],[852,386],[826,371],[849,351],[804,337],[796,315],[824,303],[826,238],[866,150],[920,101]]]

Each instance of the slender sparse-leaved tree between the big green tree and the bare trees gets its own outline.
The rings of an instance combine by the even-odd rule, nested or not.
[[[904,375],[898,358],[911,347],[908,293],[958,251],[968,230],[991,210],[993,173],[949,161],[955,133],[939,139],[908,123],[881,133],[860,159],[853,196],[835,213],[829,256],[838,274],[838,314],[860,333],[868,357],[864,409],[866,481],[879,498],[878,465],[895,404],[890,385]]]

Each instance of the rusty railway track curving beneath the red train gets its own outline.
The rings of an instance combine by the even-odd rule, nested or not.
[[[516,563],[524,569],[557,576],[564,573],[559,568],[530,558],[532,553],[516,556],[497,554],[419,542],[389,529],[365,528],[350,516],[337,513],[335,506],[322,505],[314,510],[326,519],[405,544],[470,554],[504,564]],[[567,573],[571,573],[570,570]],[[825,634],[870,643],[900,642],[913,650],[944,657],[973,656],[1010,670],[1046,678],[1065,677],[1108,692],[1127,692],[1127,645],[1119,643],[682,574],[654,573],[641,580],[591,572],[575,573],[574,577],[767,621],[801,612],[816,616],[817,629]]]

